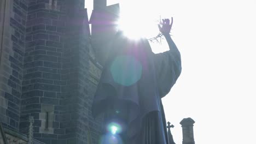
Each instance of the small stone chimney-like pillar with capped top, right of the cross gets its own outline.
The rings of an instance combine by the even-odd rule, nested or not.
[[[182,125],[183,141],[182,144],[195,144],[193,124],[195,121],[192,118],[184,118],[180,122]]]

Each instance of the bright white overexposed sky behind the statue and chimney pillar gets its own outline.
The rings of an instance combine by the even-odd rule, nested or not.
[[[162,100],[166,120],[175,126],[174,142],[182,144],[179,122],[191,117],[196,144],[254,143],[256,1],[108,0],[108,5],[115,3],[120,3],[124,19],[147,22],[149,37],[158,34],[160,15],[173,17],[171,33],[183,70]],[[85,5],[91,13],[92,0]],[[143,17],[136,18],[139,14]],[[165,43],[152,48],[155,53],[168,49]]]

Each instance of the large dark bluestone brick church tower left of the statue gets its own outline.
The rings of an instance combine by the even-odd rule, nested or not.
[[[5,132],[26,136],[33,116],[35,141],[97,143],[101,118],[92,118],[90,107],[101,65],[84,0],[1,0],[0,11]]]

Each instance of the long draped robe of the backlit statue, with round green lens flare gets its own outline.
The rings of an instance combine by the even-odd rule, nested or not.
[[[106,123],[119,123],[125,143],[167,144],[161,98],[181,74],[179,51],[154,54],[146,39],[132,41],[121,33],[108,46],[92,115],[105,113]]]

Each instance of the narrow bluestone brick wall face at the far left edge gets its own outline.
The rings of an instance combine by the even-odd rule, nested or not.
[[[1,47],[0,118],[4,127],[15,131],[20,120],[27,7],[26,1],[7,1]]]

